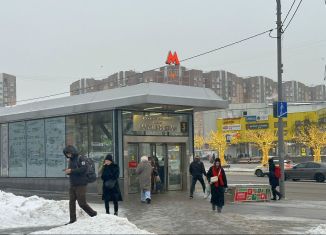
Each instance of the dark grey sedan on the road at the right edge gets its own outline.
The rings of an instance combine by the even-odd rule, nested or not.
[[[285,180],[316,180],[324,182],[326,177],[326,163],[303,162],[286,169]]]

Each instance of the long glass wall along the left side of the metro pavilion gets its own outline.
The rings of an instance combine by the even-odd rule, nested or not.
[[[98,169],[114,151],[112,116],[106,111],[1,124],[1,176],[65,177],[62,150],[69,144]]]

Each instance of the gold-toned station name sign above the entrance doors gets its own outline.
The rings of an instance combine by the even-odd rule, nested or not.
[[[178,117],[133,115],[133,131],[187,132],[187,123]]]

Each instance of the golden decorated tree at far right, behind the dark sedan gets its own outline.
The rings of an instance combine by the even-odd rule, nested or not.
[[[314,161],[321,162],[320,151],[326,146],[326,130],[311,124],[298,130],[294,139],[311,148],[314,152]]]

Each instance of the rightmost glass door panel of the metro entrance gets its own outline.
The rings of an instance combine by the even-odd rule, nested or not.
[[[168,144],[168,190],[181,189],[181,149],[179,144]]]

